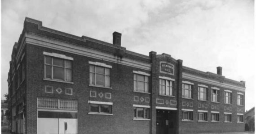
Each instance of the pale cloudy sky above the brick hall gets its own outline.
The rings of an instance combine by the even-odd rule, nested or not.
[[[253,0],[1,0],[1,98],[25,17],[77,36],[112,42],[140,54],[167,53],[183,65],[246,81],[245,109],[256,92]]]

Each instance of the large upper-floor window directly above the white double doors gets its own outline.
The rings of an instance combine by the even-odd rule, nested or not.
[[[72,61],[45,56],[45,78],[52,80],[72,81]]]

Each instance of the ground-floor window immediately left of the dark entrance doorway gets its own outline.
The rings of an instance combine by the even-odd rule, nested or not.
[[[137,119],[149,119],[150,118],[150,111],[149,108],[140,108],[140,107],[133,107],[134,109],[134,118]]]

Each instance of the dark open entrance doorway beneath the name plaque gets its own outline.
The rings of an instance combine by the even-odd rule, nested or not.
[[[177,111],[156,109],[156,134],[176,134]]]

